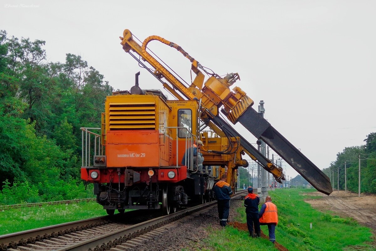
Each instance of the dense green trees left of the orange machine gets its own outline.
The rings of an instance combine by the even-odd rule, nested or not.
[[[44,45],[0,30],[0,203],[87,195],[80,127],[100,126],[113,89],[81,56],[47,62]]]

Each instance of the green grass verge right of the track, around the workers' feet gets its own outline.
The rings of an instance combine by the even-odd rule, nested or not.
[[[314,189],[276,189],[269,192],[278,208],[277,242],[294,251],[376,250],[371,244],[370,228],[362,227],[351,218],[340,218],[331,212],[321,213],[303,201],[305,198],[321,198],[322,196],[303,195],[315,191]],[[238,208],[237,211],[238,216],[235,220],[246,223],[244,207]],[[311,222],[312,229],[310,229]],[[261,229],[268,235],[267,226],[261,226]],[[232,227],[208,231],[211,234],[204,242],[209,249],[202,250],[277,250],[268,240],[252,239],[247,232]]]

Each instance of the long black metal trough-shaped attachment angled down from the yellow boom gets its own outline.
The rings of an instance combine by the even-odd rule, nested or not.
[[[333,192],[329,178],[252,107],[248,107],[237,121],[270,146],[315,189],[327,195]]]

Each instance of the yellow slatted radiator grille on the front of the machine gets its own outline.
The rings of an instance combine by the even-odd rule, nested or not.
[[[155,102],[110,103],[109,128],[155,129]]]

